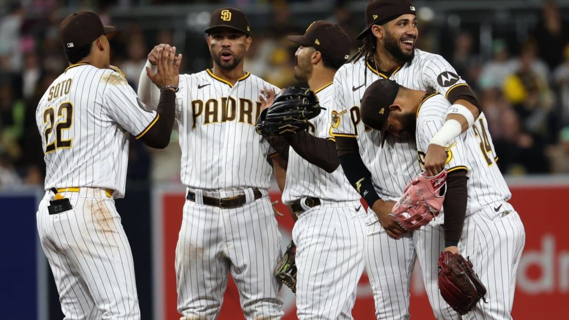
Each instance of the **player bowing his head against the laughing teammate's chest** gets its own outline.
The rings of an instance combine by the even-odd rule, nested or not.
[[[440,93],[411,90],[387,79],[370,85],[361,102],[362,120],[381,130],[382,140],[403,132],[416,137],[421,165],[429,141],[442,128],[444,110],[449,107],[450,103]],[[461,231],[457,248],[445,248],[447,226],[443,229],[440,225],[442,219],[413,233],[427,295],[437,319],[512,319],[510,312],[525,231],[518,213],[508,203],[512,194],[495,165],[496,151],[487,128],[486,118],[481,114],[472,128],[451,141],[447,150],[444,223],[448,222],[447,216],[459,216],[453,220],[461,223],[456,228]],[[472,312],[459,317],[443,300],[437,286],[441,251],[460,252],[469,257],[486,286],[488,303],[479,302]]]

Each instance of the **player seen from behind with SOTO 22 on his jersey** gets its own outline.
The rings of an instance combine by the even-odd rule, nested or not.
[[[39,239],[65,319],[140,319],[133,256],[114,206],[125,195],[129,138],[164,148],[174,124],[182,56],[158,54],[158,111],[142,107],[121,73],[110,69],[106,34],[93,11],[69,15],[60,38],[69,67],[36,109],[46,161]],[[118,69],[117,69],[118,70]]]

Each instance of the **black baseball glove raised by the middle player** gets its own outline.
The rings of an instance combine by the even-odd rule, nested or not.
[[[308,128],[308,120],[320,114],[316,93],[311,89],[286,87],[257,119],[257,133],[265,137],[289,136]]]

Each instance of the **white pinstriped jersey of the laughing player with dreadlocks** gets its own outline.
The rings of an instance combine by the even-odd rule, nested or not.
[[[360,156],[372,174],[378,195],[382,199],[398,198],[407,183],[420,173],[414,137],[388,135],[382,149],[380,132],[361,121],[360,100],[365,89],[373,81],[387,78],[410,89],[432,89],[448,96],[452,89],[467,84],[442,56],[418,49],[411,63],[395,69],[389,77],[364,60],[362,57],[344,64],[336,72],[332,132],[334,136],[357,137]]]

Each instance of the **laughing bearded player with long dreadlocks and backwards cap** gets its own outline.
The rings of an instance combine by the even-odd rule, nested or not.
[[[414,47],[418,30],[413,3],[373,0],[365,12],[368,27],[358,36],[364,40],[364,46],[334,77],[332,131],[344,173],[372,213],[366,222],[365,259],[376,316],[407,319],[415,244],[411,234],[388,215],[393,203],[387,200],[398,199],[407,183],[420,172],[415,141],[414,137],[401,134],[387,137],[382,147],[380,133],[361,121],[361,97],[373,81],[384,78],[413,89],[435,89],[451,102],[452,108],[444,110],[448,113],[447,121],[426,150],[425,169],[431,175],[446,162],[444,147],[478,117],[480,104],[446,60]],[[447,236],[448,246],[456,246],[460,232]]]

